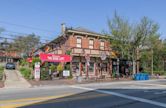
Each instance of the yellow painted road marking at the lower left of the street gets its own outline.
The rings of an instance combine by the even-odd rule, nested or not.
[[[57,99],[57,98],[62,98],[62,97],[66,97],[66,96],[71,96],[71,95],[73,95],[73,94],[68,93],[68,94],[63,94],[63,95],[58,95],[58,96],[46,96],[46,97],[24,98],[24,99],[16,99],[16,100],[4,100],[4,101],[0,101],[0,108],[16,108],[16,107],[34,104],[37,102],[46,101],[49,99]]]

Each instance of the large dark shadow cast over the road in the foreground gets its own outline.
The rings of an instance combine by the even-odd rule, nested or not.
[[[166,103],[164,89],[98,89],[97,91],[115,92],[132,97]],[[119,96],[88,91],[63,98],[50,99],[18,108],[160,108],[146,102],[140,102]],[[162,107],[161,107],[162,108]]]

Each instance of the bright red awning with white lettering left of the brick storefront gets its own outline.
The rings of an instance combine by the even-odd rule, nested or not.
[[[40,53],[41,61],[48,61],[48,62],[70,62],[72,60],[71,56],[69,55],[58,55],[58,54],[45,54]]]

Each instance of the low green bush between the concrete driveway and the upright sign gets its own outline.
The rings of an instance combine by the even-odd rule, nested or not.
[[[21,74],[23,75],[24,78],[32,79],[32,73],[31,73],[30,68],[22,67],[22,68],[20,68],[20,72],[21,72]]]

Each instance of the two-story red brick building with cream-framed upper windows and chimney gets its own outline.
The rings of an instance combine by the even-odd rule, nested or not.
[[[62,33],[53,41],[41,47],[38,52],[69,54],[73,76],[111,76],[112,60],[110,42],[105,35],[87,29],[67,28],[62,24]],[[76,70],[79,70],[79,73]]]

